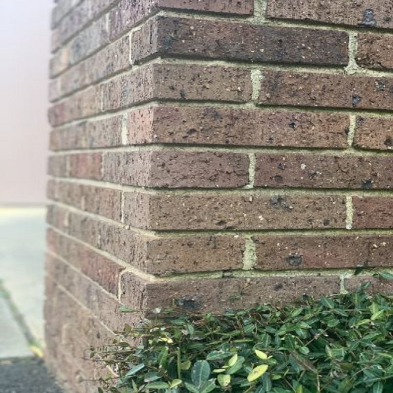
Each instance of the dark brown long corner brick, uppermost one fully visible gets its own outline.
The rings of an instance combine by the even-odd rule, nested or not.
[[[241,36],[242,39],[238,39]],[[133,62],[152,55],[345,65],[345,32],[158,16],[133,33]]]

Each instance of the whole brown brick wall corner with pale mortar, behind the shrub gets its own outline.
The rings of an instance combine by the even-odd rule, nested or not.
[[[344,291],[393,254],[388,0],[58,0],[47,359],[137,314]],[[378,289],[389,286],[376,281]]]

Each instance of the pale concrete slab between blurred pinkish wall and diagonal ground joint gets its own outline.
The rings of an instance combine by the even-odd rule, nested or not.
[[[0,281],[43,345],[45,207],[0,207]]]

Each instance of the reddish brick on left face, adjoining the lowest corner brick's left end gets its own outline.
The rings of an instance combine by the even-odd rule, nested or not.
[[[48,229],[47,244],[54,254],[67,260],[108,292],[118,294],[119,276],[124,269],[121,265],[53,229]]]

